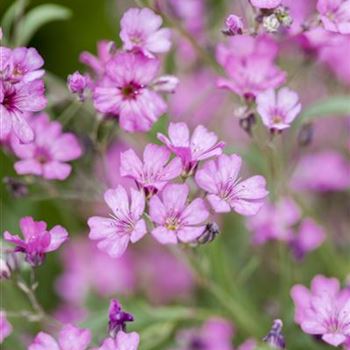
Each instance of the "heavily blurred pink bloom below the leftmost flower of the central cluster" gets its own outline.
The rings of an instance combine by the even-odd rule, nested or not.
[[[56,290],[68,303],[84,303],[91,290],[101,297],[110,297],[116,293],[129,294],[136,287],[134,259],[127,252],[112,259],[92,241],[73,239],[62,250],[61,257],[64,272],[56,281]]]

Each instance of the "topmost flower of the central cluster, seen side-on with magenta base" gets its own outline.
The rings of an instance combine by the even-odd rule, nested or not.
[[[185,123],[170,123],[168,134],[169,137],[166,137],[158,133],[157,137],[181,158],[186,173],[191,173],[200,160],[222,154],[225,146],[224,142],[217,142],[217,136],[202,125],[198,125],[190,137]]]

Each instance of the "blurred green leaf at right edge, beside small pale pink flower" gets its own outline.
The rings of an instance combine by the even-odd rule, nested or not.
[[[332,96],[307,107],[297,119],[296,126],[312,122],[319,118],[344,116],[350,114],[350,96]]]

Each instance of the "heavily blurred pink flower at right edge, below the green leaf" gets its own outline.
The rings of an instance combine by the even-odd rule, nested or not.
[[[350,163],[335,151],[305,155],[292,176],[292,187],[298,191],[342,191],[350,187]]]

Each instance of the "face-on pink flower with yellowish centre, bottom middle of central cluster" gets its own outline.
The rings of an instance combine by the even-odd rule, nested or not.
[[[188,194],[186,184],[171,184],[164,188],[161,198],[157,195],[151,198],[150,216],[156,224],[152,235],[160,243],[190,243],[203,233],[203,221],[208,218],[209,212],[200,198],[186,205]]]

